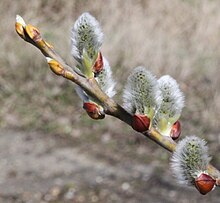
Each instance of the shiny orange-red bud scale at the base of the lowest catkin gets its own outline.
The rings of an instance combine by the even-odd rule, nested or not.
[[[208,174],[201,173],[195,179],[196,189],[203,195],[210,192],[215,187],[216,181]]]

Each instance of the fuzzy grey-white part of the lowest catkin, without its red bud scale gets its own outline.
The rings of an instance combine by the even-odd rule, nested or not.
[[[170,164],[179,183],[192,185],[194,179],[206,171],[210,160],[206,142],[199,137],[188,136],[178,142]]]

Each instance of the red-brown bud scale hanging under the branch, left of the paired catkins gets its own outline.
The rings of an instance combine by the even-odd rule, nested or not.
[[[101,109],[102,107],[93,102],[84,102],[83,108],[92,119],[98,120],[105,118],[105,114]]]

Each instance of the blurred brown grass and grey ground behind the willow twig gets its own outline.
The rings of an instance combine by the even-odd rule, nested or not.
[[[220,2],[218,0],[1,0],[0,202],[218,202],[176,183],[170,154],[111,117],[93,121],[74,84],[14,30],[37,26],[74,65],[70,30],[89,11],[105,34],[102,52],[117,81],[146,66],[174,77],[185,94],[182,137],[208,141],[220,168]]]

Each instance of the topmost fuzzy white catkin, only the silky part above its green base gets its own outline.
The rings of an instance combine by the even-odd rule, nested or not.
[[[83,13],[72,28],[71,42],[71,53],[79,63],[83,50],[93,59],[103,42],[103,33],[98,21],[89,13]]]

